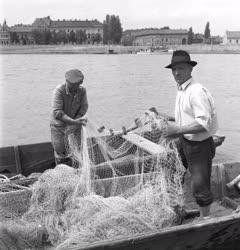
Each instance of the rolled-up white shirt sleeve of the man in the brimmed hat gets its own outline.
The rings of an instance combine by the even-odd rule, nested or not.
[[[203,88],[197,88],[191,93],[191,105],[195,120],[207,131],[210,130],[212,123],[211,100]]]

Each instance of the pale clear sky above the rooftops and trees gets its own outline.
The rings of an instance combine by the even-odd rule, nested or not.
[[[118,15],[126,29],[189,29],[204,33],[210,23],[211,35],[226,30],[240,31],[239,0],[0,0],[0,23],[8,26],[32,24],[37,17],[105,20]]]

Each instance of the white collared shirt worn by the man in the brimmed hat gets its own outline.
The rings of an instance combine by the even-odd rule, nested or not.
[[[193,78],[179,86],[175,104],[175,121],[179,126],[189,125],[196,121],[206,129],[197,134],[184,134],[184,137],[191,141],[203,141],[213,136],[218,129],[212,95]]]

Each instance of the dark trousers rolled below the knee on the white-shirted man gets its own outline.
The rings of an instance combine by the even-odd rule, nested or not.
[[[208,206],[213,202],[211,193],[212,159],[215,156],[213,138],[204,141],[189,141],[180,137],[179,153],[183,165],[191,174],[192,192],[199,206]]]

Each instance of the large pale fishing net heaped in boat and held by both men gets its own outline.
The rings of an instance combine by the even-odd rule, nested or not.
[[[57,165],[38,178],[28,209],[0,224],[0,244],[14,235],[22,247],[16,249],[46,244],[84,249],[177,224],[184,167],[175,143],[161,136],[167,123],[147,111],[120,132],[90,121],[68,128],[73,167]]]

